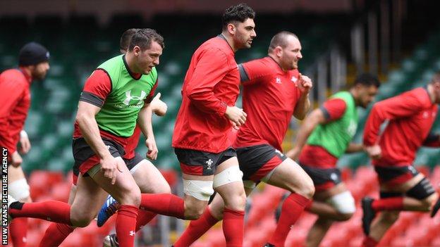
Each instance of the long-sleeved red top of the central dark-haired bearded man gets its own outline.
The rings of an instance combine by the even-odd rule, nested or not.
[[[226,106],[234,106],[240,75],[234,52],[219,35],[191,58],[182,87],[182,104],[173,132],[174,148],[220,153],[231,145]]]

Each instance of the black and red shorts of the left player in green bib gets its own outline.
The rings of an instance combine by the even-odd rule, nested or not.
[[[109,148],[111,156],[113,157],[123,157],[125,151],[123,147],[117,144],[115,141],[109,139],[102,139],[104,144]],[[94,153],[89,144],[84,138],[75,138],[72,141],[72,151],[73,159],[75,159],[75,164],[73,165],[73,173],[81,173],[82,177],[87,177],[87,171],[95,165],[99,164],[99,157]]]

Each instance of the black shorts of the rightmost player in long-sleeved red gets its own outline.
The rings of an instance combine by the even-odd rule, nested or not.
[[[415,177],[419,172],[412,165],[405,166],[389,166],[381,167],[375,166],[374,170],[377,173],[380,184],[387,184],[388,186],[398,186],[408,182],[412,177]]]

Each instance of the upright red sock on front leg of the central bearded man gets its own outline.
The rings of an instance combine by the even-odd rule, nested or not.
[[[225,208],[223,211],[223,234],[226,239],[226,247],[243,246],[245,211]]]

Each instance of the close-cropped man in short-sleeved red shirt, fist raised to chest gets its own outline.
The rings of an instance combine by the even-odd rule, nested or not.
[[[265,58],[238,65],[243,85],[246,124],[238,129],[233,147],[237,150],[243,183],[249,195],[259,182],[291,191],[283,203],[281,220],[266,246],[284,246],[291,226],[313,196],[312,179],[281,153],[281,144],[292,115],[302,120],[310,108],[310,78],[298,72],[301,44],[295,34],[276,34]],[[185,230],[175,247],[190,246],[216,222],[224,218],[224,201],[215,196],[199,220]]]

